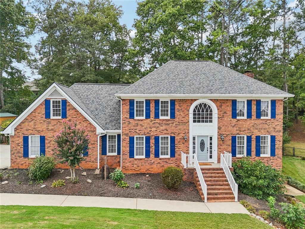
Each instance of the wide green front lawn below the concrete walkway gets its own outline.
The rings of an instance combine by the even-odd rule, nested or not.
[[[217,228],[269,229],[246,214],[181,213],[132,209],[1,206],[0,228]]]

